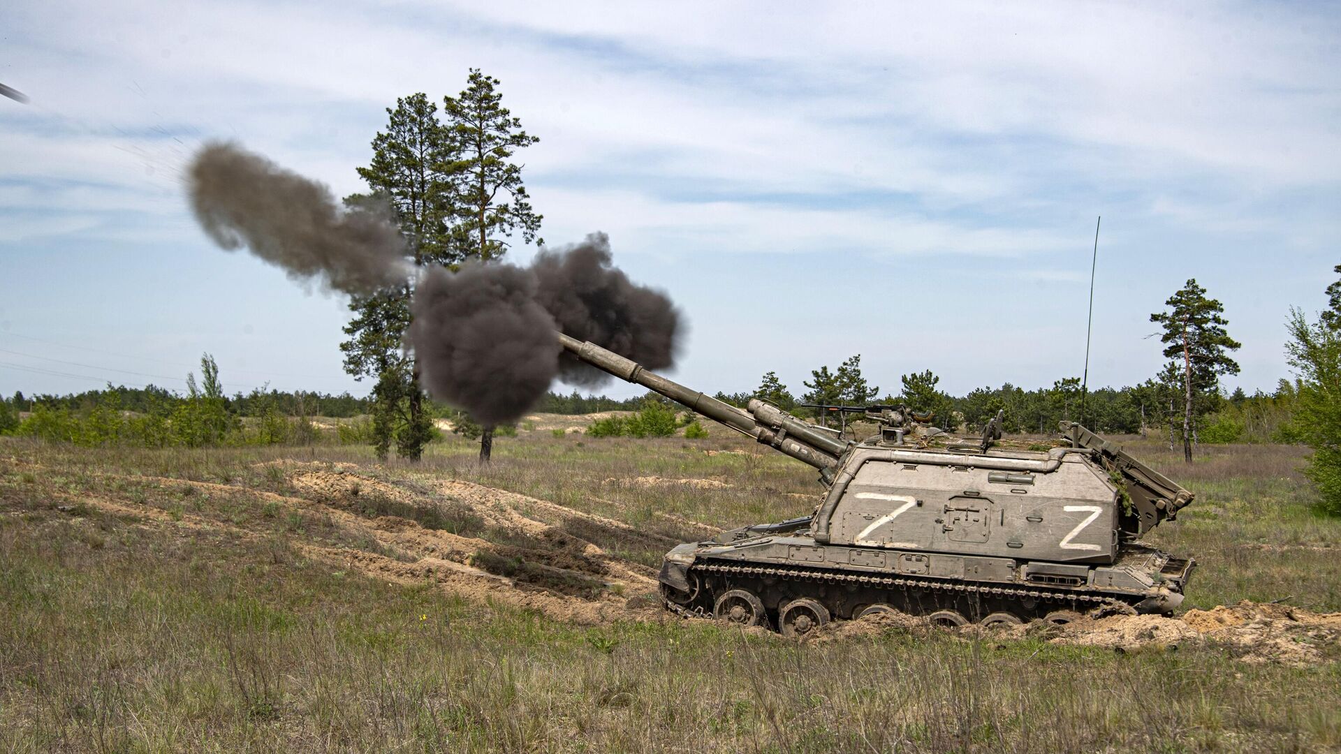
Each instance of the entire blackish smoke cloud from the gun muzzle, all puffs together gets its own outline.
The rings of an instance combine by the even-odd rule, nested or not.
[[[347,294],[404,286],[413,270],[388,212],[342,208],[330,191],[236,145],[211,144],[190,166],[190,204],[219,246],[243,246],[290,278]],[[467,263],[425,270],[406,343],[433,397],[481,424],[522,417],[555,377],[607,376],[565,353],[555,331],[648,368],[675,362],[680,315],[660,291],[611,266],[610,241],[542,250],[528,267]]]

